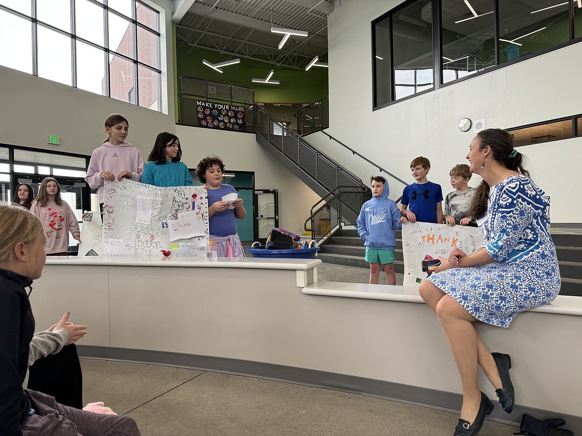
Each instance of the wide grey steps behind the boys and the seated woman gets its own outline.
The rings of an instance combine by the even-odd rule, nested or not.
[[[556,244],[562,288],[560,295],[582,296],[582,228],[556,228],[552,230]],[[364,260],[365,246],[357,230],[337,230],[322,242],[318,259],[336,265],[355,266],[368,269]],[[396,262],[394,269],[404,273],[402,232],[396,232]]]

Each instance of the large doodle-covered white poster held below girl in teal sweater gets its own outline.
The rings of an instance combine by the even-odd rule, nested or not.
[[[183,243],[204,251],[208,244],[206,191],[106,180],[102,240],[108,246],[104,256],[111,259],[165,259]]]

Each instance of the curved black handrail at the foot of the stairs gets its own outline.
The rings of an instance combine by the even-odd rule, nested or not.
[[[320,242],[331,231],[340,225],[342,213],[342,205],[346,201],[342,200],[342,196],[350,195],[350,200],[356,199],[358,205],[364,203],[364,196],[369,194],[366,187],[360,187],[360,190],[353,190],[352,186],[336,186],[329,191],[320,201],[311,207],[311,215],[304,221],[303,228],[307,232],[310,230],[307,223],[311,225],[311,238],[315,242]],[[317,226],[315,225],[317,221]],[[356,224],[355,221],[352,224]]]

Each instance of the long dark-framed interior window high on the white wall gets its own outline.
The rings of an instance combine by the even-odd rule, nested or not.
[[[582,39],[582,0],[409,0],[372,22],[374,109]]]

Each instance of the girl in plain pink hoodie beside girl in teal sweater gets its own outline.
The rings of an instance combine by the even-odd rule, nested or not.
[[[107,140],[93,150],[85,181],[99,190],[99,202],[103,203],[104,180],[121,181],[129,178],[141,181],[144,171],[144,158],[141,152],[129,142],[125,142],[129,133],[129,123],[123,115],[113,113],[105,120]]]

